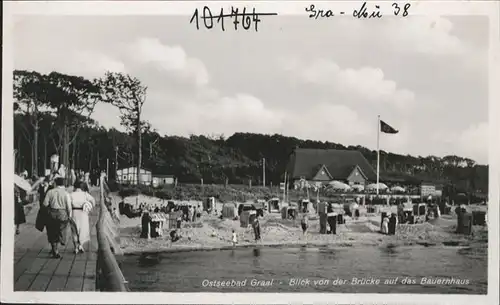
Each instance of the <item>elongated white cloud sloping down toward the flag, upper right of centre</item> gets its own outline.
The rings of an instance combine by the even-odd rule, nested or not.
[[[379,68],[342,69],[331,60],[318,59],[309,65],[292,60],[284,69],[295,72],[304,82],[328,87],[343,97],[357,96],[365,101],[391,103],[401,108],[411,106],[415,100],[412,91],[398,88]]]

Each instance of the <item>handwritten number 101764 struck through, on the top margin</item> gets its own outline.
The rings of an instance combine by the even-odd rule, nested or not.
[[[257,32],[258,31],[258,25],[262,21],[259,17],[260,16],[275,16],[278,15],[278,13],[256,13],[255,8],[252,9],[252,12],[247,12],[246,8],[243,8],[241,11],[238,8],[231,7],[231,12],[230,13],[225,13],[224,8],[220,9],[220,12],[218,14],[212,14],[212,11],[208,6],[203,7],[203,11],[200,16],[200,12],[198,9],[196,9],[191,16],[191,20],[189,20],[189,23],[194,23],[196,25],[196,29],[200,29],[200,24],[202,23],[203,26],[211,30],[214,25],[218,24],[221,27],[221,30],[225,31],[225,21],[226,19],[229,19],[229,23],[232,23],[234,26],[234,30],[238,30],[240,28],[240,24],[243,27],[244,30],[250,30],[253,25],[253,29]],[[200,22],[200,19],[203,21]]]

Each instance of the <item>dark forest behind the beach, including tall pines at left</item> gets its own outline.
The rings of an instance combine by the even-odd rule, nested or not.
[[[161,135],[141,118],[147,87],[137,78],[106,73],[88,80],[57,72],[44,75],[14,71],[16,169],[42,175],[52,154],[67,168],[106,170],[141,164],[153,174],[174,175],[179,182],[262,183],[284,179],[289,155],[297,147],[360,151],[375,167],[376,151],[362,146],[301,140],[282,135]],[[97,103],[120,109],[125,132],[106,129],[90,119]],[[488,167],[455,155],[410,156],[381,151],[381,176],[389,180],[442,182],[462,192],[488,190]],[[140,180],[140,177],[137,177]]]

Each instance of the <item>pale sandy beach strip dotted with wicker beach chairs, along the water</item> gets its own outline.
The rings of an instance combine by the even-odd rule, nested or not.
[[[127,198],[125,202],[133,203],[135,198]],[[139,202],[161,199],[141,196]],[[194,202],[193,202],[194,203]],[[222,204],[216,209],[220,211]],[[395,207],[392,207],[395,208]],[[169,252],[193,250],[231,249],[232,230],[238,235],[236,247],[253,246],[328,246],[352,247],[356,245],[405,245],[405,246],[462,246],[487,249],[488,237],[486,226],[474,226],[471,236],[455,233],[456,216],[443,215],[441,218],[423,224],[399,224],[396,235],[381,234],[380,215],[366,214],[357,220],[345,217],[346,223],[337,226],[336,235],[319,234],[319,219],[310,214],[309,230],[303,235],[300,228],[300,216],[297,220],[284,220],[278,213],[266,213],[260,218],[261,241],[254,240],[253,229],[240,227],[239,220],[219,219],[205,212],[196,222],[183,222],[180,234],[182,238],[172,243],[168,230],[159,238],[140,238],[140,218],[130,219],[124,215],[120,218],[120,247],[126,253]],[[486,251],[486,250],[485,250]]]

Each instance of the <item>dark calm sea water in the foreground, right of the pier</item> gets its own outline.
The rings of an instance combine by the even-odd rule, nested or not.
[[[130,255],[121,266],[132,291],[487,293],[487,254],[471,248],[239,248]],[[424,277],[453,278],[455,283],[423,283]],[[296,278],[309,282],[291,285]],[[354,285],[353,278],[380,283]],[[325,279],[329,282],[314,282]],[[209,281],[216,285],[213,281],[225,280],[245,286],[207,286]],[[257,280],[272,283],[252,286]]]

